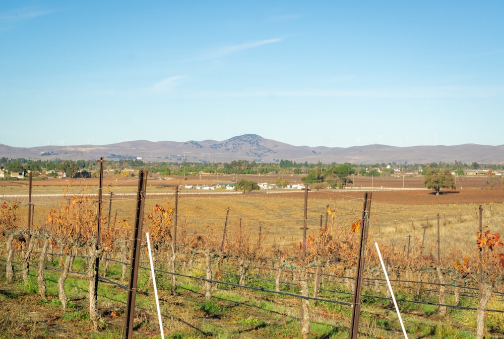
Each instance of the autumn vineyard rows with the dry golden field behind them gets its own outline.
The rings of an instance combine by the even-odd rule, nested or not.
[[[0,188],[0,337],[122,337],[138,223],[133,337],[161,337],[147,232],[166,337],[403,337],[375,242],[409,337],[504,337],[499,185],[200,194],[147,180],[139,198],[137,181]]]

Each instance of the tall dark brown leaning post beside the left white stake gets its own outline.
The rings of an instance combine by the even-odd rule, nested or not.
[[[147,171],[140,170],[137,194],[137,215],[130,266],[130,283],[128,287],[128,301],[124,319],[122,339],[133,338],[133,319],[135,317],[135,299],[137,297],[138,266],[140,261],[140,240],[142,237],[142,223],[144,218],[145,188],[147,187]]]

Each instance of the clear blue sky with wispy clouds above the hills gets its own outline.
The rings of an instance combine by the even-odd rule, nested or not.
[[[2,2],[0,143],[504,144],[503,17],[502,1]]]

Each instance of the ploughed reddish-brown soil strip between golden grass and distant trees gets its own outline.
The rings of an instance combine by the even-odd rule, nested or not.
[[[291,184],[301,183],[302,176],[292,175],[220,175],[220,176],[197,176],[197,177],[181,177],[172,176],[168,178],[159,178],[149,176],[147,179],[147,193],[166,192],[170,187],[176,185],[216,185],[234,183],[240,179],[254,180],[256,182],[275,183],[278,178],[289,180]],[[324,198],[325,195],[334,193],[344,194],[345,196],[361,198],[362,191],[373,192],[372,199],[374,202],[403,204],[403,205],[428,205],[428,204],[485,204],[485,203],[504,203],[504,180],[494,177],[493,186],[489,186],[490,179],[487,176],[480,177],[457,177],[455,190],[444,190],[439,196],[435,196],[432,191],[423,189],[422,176],[400,176],[400,177],[360,177],[352,178],[354,183],[348,185],[341,190],[320,190],[310,191],[309,195],[313,198]],[[126,187],[131,192],[134,192],[138,187],[138,177],[105,177],[104,186]],[[8,194],[28,194],[28,181],[3,181],[0,182],[0,195]],[[41,194],[44,191],[51,191],[56,187],[59,192],[63,192],[67,186],[72,187],[92,187],[98,186],[98,179],[47,179],[33,180],[34,192]],[[405,189],[405,190],[387,190],[387,189]],[[408,190],[413,189],[413,190]],[[215,192],[207,191],[207,194]],[[293,193],[287,191],[290,195],[302,195],[302,191]],[[35,194],[35,193],[34,193]],[[254,194],[254,193],[252,193]]]

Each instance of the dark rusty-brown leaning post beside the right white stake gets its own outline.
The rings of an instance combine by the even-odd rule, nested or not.
[[[369,198],[368,198],[369,195]],[[355,274],[355,290],[352,301],[352,317],[350,321],[350,339],[357,339],[359,334],[359,314],[360,314],[360,296],[362,292],[362,282],[364,275],[364,260],[366,255],[367,228],[369,226],[369,210],[371,208],[372,193],[364,193],[364,207],[362,209],[362,218],[360,221],[360,245],[359,258],[357,261],[357,272]]]

